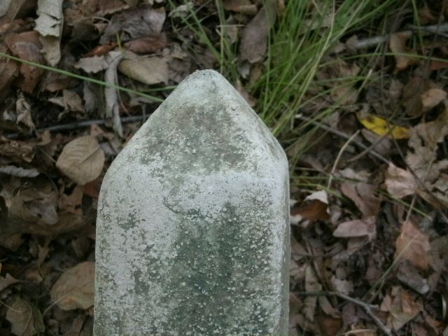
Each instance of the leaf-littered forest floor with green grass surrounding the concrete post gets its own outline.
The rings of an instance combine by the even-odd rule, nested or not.
[[[92,335],[113,158],[197,69],[290,162],[290,335],[448,335],[448,1],[0,2],[0,335]]]

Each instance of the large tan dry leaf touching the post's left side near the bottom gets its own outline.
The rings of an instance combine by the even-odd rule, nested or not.
[[[95,264],[80,262],[67,269],[51,288],[51,301],[60,309],[87,309],[94,303]]]

